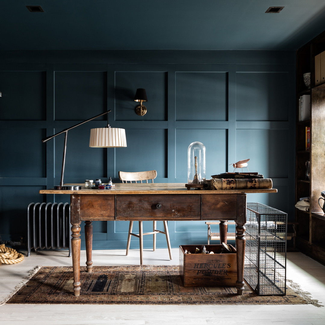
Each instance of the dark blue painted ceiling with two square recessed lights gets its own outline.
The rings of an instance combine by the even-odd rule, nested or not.
[[[295,50],[325,30],[325,1],[1,0],[0,30],[0,50]]]

